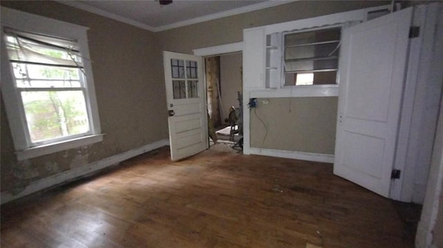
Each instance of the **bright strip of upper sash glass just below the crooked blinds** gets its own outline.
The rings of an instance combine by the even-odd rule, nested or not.
[[[39,66],[34,64],[11,63],[14,75],[17,79],[75,79],[79,80],[78,68],[66,68],[58,66]]]

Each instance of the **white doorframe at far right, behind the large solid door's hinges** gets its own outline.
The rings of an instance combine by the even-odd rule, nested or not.
[[[440,103],[440,94],[434,93],[442,90],[441,81],[432,79],[437,73],[433,69],[437,61],[433,60],[437,49],[433,48],[437,39],[437,10],[435,5],[422,5],[417,6],[414,12],[413,25],[420,27],[420,34],[410,39],[395,160],[395,169],[401,170],[401,178],[392,182],[390,193],[390,198],[403,202],[422,204],[426,191],[424,175],[428,175],[426,170],[431,162],[432,150],[429,142],[435,137],[437,106]]]

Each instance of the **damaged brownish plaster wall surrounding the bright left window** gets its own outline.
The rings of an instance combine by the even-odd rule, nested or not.
[[[89,27],[89,51],[103,142],[17,161],[1,103],[1,193],[168,138],[163,65],[154,33],[55,1],[1,6]]]

